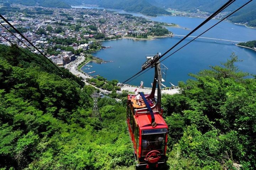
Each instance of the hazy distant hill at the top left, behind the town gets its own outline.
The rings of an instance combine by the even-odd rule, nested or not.
[[[40,5],[44,7],[71,8],[71,6],[63,0],[9,0],[9,3],[22,5]]]

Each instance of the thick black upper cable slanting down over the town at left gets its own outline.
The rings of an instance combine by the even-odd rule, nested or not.
[[[65,73],[63,72],[63,70],[61,70],[58,66],[56,66],[55,64],[53,64],[52,63],[52,61],[49,59],[49,58],[47,58],[36,46],[34,46],[33,44],[32,44],[32,42],[30,42],[30,40],[28,40],[23,34],[21,34],[20,33],[20,31],[18,31],[14,26],[12,26],[12,24],[9,22],[9,21],[7,21],[7,19],[5,19],[5,17],[4,16],[2,16],[1,14],[0,14],[0,17],[12,28],[12,29],[14,29],[20,36],[22,36],[22,38],[23,39],[25,39],[30,45],[32,45],[43,57],[45,57],[55,68],[57,68],[60,72],[62,72],[62,76],[64,76],[65,75]],[[1,24],[2,25],[2,24]],[[6,27],[5,27],[6,28]],[[9,29],[8,29],[9,30]],[[10,30],[9,30],[9,32],[10,32]],[[23,42],[23,41],[22,41]],[[23,44],[25,44],[25,43],[23,43]],[[74,84],[77,84],[76,82],[74,82],[74,80],[72,80],[72,79],[70,79],[69,77],[67,77],[70,81],[72,81]],[[79,86],[79,88],[80,88],[80,85],[76,85],[76,86]]]

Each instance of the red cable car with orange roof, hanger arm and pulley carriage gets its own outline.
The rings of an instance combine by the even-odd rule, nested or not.
[[[142,65],[142,69],[155,66],[151,94],[135,92],[135,95],[128,95],[127,127],[133,142],[137,168],[157,168],[158,164],[165,163],[168,127],[162,118],[162,75],[160,62],[157,60],[159,56],[160,54],[157,54],[149,58]],[[155,98],[156,85],[158,85],[157,99]]]

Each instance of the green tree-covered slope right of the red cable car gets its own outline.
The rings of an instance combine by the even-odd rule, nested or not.
[[[165,95],[170,169],[256,168],[256,79],[222,63],[180,83],[181,94]]]

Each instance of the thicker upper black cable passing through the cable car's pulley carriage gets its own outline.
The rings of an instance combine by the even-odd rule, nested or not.
[[[220,13],[221,11],[223,11],[226,7],[228,7],[229,5],[231,5],[233,2],[235,2],[236,0],[229,0],[228,2],[226,2],[222,7],[220,7],[217,11],[215,11],[211,16],[209,16],[205,21],[203,21],[201,24],[199,24],[199,26],[197,26],[195,29],[193,29],[190,33],[188,33],[184,38],[182,38],[179,42],[177,42],[174,46],[172,46],[169,50],[167,50],[161,57],[163,57],[164,55],[166,55],[166,53],[168,53],[169,51],[171,51],[172,49],[174,49],[174,47],[176,47],[178,44],[180,44],[183,40],[185,40],[188,36],[190,36],[192,33],[194,33],[196,30],[198,30],[199,28],[201,28],[204,24],[206,24],[208,21],[210,21],[210,19],[212,19],[214,16],[216,16],[218,13]],[[159,57],[159,60],[160,58]],[[157,61],[159,61],[157,60]],[[154,63],[150,64],[150,66],[153,66],[157,61],[155,61]],[[150,67],[149,66],[149,67]],[[148,67],[148,68],[149,68]],[[134,78],[135,76],[137,76],[138,74],[142,73],[145,69],[140,70],[138,73],[134,74],[132,77],[130,77],[129,79],[123,81],[123,83],[120,84],[123,85],[124,83],[126,83],[127,81],[129,81],[130,79]]]

